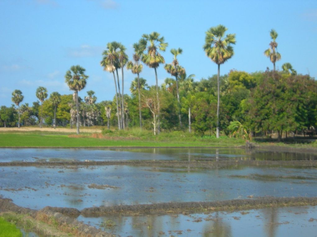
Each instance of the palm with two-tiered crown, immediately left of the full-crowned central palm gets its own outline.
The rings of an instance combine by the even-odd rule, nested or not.
[[[143,44],[143,46],[144,46],[144,44]],[[138,75],[138,77],[137,77],[138,78],[138,87],[137,88],[138,88],[138,92],[139,92],[139,122],[140,122],[140,128],[142,128],[141,93],[140,93],[140,76],[139,76],[139,74],[143,69],[143,65],[140,64],[140,58],[142,56],[144,48],[138,43],[134,43],[133,48],[134,48],[134,54],[132,56],[133,62],[129,61],[126,65],[126,67],[127,67],[127,69],[131,70],[133,74]],[[131,85],[132,85],[132,83],[131,83]],[[131,91],[131,87],[130,87],[130,91]]]

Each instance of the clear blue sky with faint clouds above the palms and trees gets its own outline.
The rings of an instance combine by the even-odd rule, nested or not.
[[[221,65],[220,73],[231,69],[247,72],[273,68],[263,54],[274,28],[281,60],[301,74],[317,78],[317,1],[143,1],[143,0],[1,0],[0,1],[0,105],[10,106],[11,93],[23,92],[22,103],[36,101],[36,88],[48,93],[71,94],[64,75],[72,65],[81,65],[89,76],[79,92],[83,98],[95,91],[97,102],[112,100],[113,77],[102,70],[101,53],[107,42],[118,41],[132,58],[133,43],[143,33],[159,32],[168,42],[162,53],[172,61],[171,48],[182,48],[178,57],[187,75],[196,80],[217,73],[217,65],[202,49],[205,32],[222,24],[236,33],[235,54]],[[155,84],[154,70],[141,73]],[[134,75],[125,70],[124,92]],[[159,83],[169,75],[160,65]]]

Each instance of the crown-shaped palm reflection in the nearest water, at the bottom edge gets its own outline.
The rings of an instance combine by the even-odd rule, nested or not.
[[[216,212],[215,219],[212,221],[211,225],[210,222],[206,222],[203,230],[204,237],[230,237],[232,236],[231,233],[231,226],[229,223],[224,222],[222,218],[219,218],[219,213]]]

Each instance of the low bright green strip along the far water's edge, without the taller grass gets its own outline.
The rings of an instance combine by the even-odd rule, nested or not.
[[[230,147],[244,144],[232,138],[216,140],[185,140],[176,137],[165,140],[140,140],[126,137],[70,137],[63,134],[0,133],[0,147]]]

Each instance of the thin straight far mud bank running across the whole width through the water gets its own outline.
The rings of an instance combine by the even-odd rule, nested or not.
[[[231,159],[225,161],[217,160],[126,160],[126,161],[11,161],[0,162],[2,166],[35,166],[35,167],[67,167],[67,166],[110,166],[110,165],[127,165],[127,166],[148,166],[148,167],[169,167],[169,168],[199,168],[199,169],[215,169],[228,168],[238,166],[256,166],[256,167],[302,167],[317,168],[317,160],[292,160],[292,161],[259,161],[259,160],[242,160]]]

